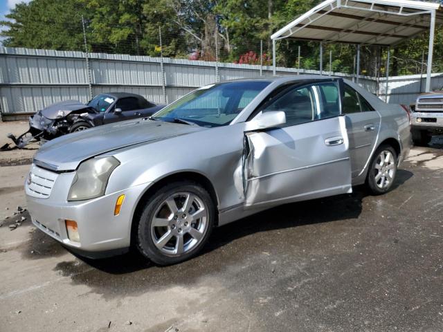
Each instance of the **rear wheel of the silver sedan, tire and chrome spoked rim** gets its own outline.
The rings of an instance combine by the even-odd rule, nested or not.
[[[384,156],[383,163],[381,162],[382,156]],[[392,146],[381,145],[375,151],[366,177],[366,185],[372,194],[385,194],[391,189],[397,175],[397,163],[397,152]]]

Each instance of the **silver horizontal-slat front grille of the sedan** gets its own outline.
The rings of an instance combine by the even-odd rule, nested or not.
[[[37,199],[47,199],[51,195],[58,174],[33,165],[26,181],[26,193]]]

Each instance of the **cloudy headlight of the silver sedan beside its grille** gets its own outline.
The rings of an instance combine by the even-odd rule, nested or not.
[[[80,164],[72,181],[68,201],[95,199],[105,194],[109,176],[120,165],[114,157],[98,157]]]

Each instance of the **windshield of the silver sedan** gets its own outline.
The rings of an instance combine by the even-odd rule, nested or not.
[[[165,107],[153,119],[186,120],[204,127],[224,126],[268,85],[264,81],[247,81],[204,86]]]

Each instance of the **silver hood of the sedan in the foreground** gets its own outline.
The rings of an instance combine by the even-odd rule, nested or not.
[[[46,142],[35,154],[34,162],[55,171],[69,171],[76,169],[83,160],[105,152],[205,129],[197,125],[152,120],[107,124]]]

